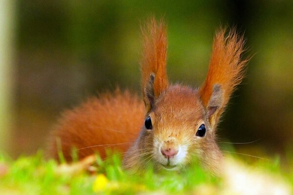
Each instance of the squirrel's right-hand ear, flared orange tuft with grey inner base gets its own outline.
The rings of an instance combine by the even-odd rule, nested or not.
[[[241,82],[248,61],[241,59],[243,37],[239,37],[235,30],[231,30],[227,36],[225,34],[226,29],[216,33],[208,75],[199,89],[212,128],[217,124],[235,87]]]

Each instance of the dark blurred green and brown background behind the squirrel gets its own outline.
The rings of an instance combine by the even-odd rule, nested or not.
[[[193,87],[206,76],[215,30],[236,26],[253,57],[219,140],[255,141],[234,146],[255,156],[293,151],[292,0],[3,2],[0,147],[10,156],[44,148],[60,113],[89,96],[116,86],[140,93],[140,25],[152,14],[167,20],[170,81]]]

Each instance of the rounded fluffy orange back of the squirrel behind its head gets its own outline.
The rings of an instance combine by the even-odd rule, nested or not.
[[[143,101],[129,91],[89,98],[63,113],[50,142],[50,156],[59,159],[58,152],[62,151],[71,161],[75,150],[79,159],[95,152],[104,158],[106,149],[113,146],[126,152],[138,137],[144,115]]]

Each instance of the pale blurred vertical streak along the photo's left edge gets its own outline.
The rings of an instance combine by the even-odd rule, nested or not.
[[[0,152],[11,143],[15,11],[15,0],[0,0]]]

